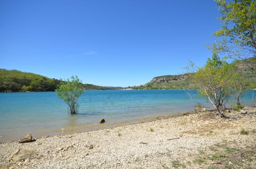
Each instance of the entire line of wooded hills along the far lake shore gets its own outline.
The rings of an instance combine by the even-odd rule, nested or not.
[[[249,59],[250,63],[256,63],[256,57]],[[245,60],[237,60],[236,64],[244,77],[245,88],[256,88],[256,68],[247,64]],[[27,91],[55,91],[62,80],[51,79],[34,73],[18,70],[0,69],[0,92],[27,92]],[[103,87],[91,84],[83,84],[85,90],[123,89],[122,87]],[[126,87],[131,89],[195,89],[187,74],[163,75],[153,78],[150,82],[141,86]]]

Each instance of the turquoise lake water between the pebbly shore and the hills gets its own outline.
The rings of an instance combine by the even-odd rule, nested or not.
[[[0,94],[0,141],[88,131],[99,126],[163,114],[193,111],[196,90],[86,90],[79,98],[79,113],[68,114],[67,105],[55,92]],[[250,90],[243,103],[256,105],[256,91]],[[210,104],[206,104],[211,107]],[[105,119],[105,124],[99,124]]]

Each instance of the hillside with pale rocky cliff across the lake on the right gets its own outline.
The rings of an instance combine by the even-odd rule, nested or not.
[[[249,59],[250,63],[256,63],[256,57]],[[256,88],[256,68],[248,64],[248,60],[236,61],[239,71],[242,72],[248,88]],[[187,74],[162,75],[153,78],[150,82],[141,86],[134,86],[133,89],[192,89],[195,85]]]

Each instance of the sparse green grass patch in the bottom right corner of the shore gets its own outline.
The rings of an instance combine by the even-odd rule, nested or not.
[[[198,150],[199,155],[192,161],[193,163],[207,168],[253,168],[256,160],[255,145],[241,147],[232,143],[217,143],[209,149]]]

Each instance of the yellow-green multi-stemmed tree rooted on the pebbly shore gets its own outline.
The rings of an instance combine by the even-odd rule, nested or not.
[[[233,95],[233,91],[230,90],[230,77],[233,72],[229,68],[227,62],[221,61],[217,54],[213,54],[212,59],[208,58],[204,67],[197,67],[196,72],[191,73],[198,93],[209,100],[218,114],[225,118],[227,116],[222,110]]]

